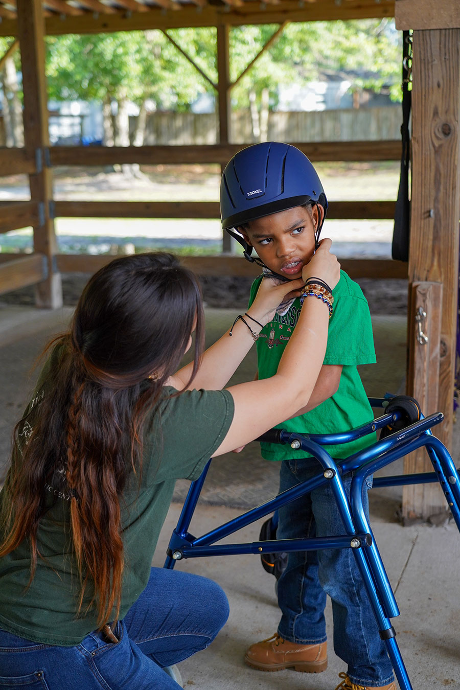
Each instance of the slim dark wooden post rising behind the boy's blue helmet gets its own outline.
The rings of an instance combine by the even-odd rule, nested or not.
[[[217,100],[219,101],[219,144],[230,140],[230,27],[217,25]],[[225,166],[221,165],[221,173]],[[222,235],[222,251],[232,250],[232,238],[227,232]]]

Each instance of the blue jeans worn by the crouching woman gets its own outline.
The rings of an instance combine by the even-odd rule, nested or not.
[[[75,647],[57,647],[0,630],[0,689],[177,690],[163,667],[208,647],[228,612],[212,580],[152,568],[115,630],[118,643],[96,631]]]

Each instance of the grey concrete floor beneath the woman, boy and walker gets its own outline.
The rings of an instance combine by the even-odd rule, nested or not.
[[[57,312],[0,303],[0,480],[8,460],[14,422],[28,401],[36,372],[32,363],[54,333],[66,328],[70,308]],[[232,310],[207,310],[208,339],[232,322]],[[234,316],[233,316],[234,318]],[[374,317],[379,364],[364,367],[361,377],[368,395],[403,391],[406,359],[404,317]],[[250,353],[234,381],[252,377],[255,353]],[[435,430],[434,430],[435,431]],[[456,429],[456,438],[459,430]],[[457,446],[456,446],[457,447]],[[452,453],[453,454],[453,453]],[[458,464],[457,452],[454,459]],[[394,463],[396,465],[397,463]],[[215,468],[215,469],[214,469]],[[399,468],[400,469],[400,468]],[[225,522],[246,506],[254,506],[276,493],[277,467],[260,460],[257,444],[244,453],[223,456],[212,463],[203,500],[190,531],[199,535]],[[397,468],[392,468],[396,473]],[[180,500],[187,482],[178,482]],[[401,615],[393,620],[397,641],[414,690],[460,689],[460,538],[452,522],[434,528],[426,524],[402,527],[395,513],[400,489],[371,491],[371,522],[377,544],[395,591]],[[173,502],[163,526],[154,565],[162,566],[170,533],[177,522],[180,502]],[[229,541],[254,541],[259,524],[252,524]],[[245,666],[243,653],[254,641],[269,637],[279,613],[274,578],[254,555],[183,560],[176,566],[213,578],[230,600],[230,619],[217,640],[204,652],[180,664],[184,687],[200,690],[334,690],[344,664],[332,649],[332,622],[327,609],[331,640],[329,667],[319,675],[294,671],[261,673]]]

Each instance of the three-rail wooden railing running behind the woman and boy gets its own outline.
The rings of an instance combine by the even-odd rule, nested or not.
[[[59,146],[38,150],[35,156],[24,149],[0,150],[3,175],[34,174],[41,166],[105,166],[138,164],[221,164],[244,145],[214,146],[129,146],[86,147]],[[399,141],[317,142],[294,144],[312,161],[384,161],[399,159]],[[46,210],[52,217],[99,218],[219,218],[217,201],[50,201],[48,209],[37,201],[0,203],[0,233],[32,226],[40,234]],[[330,219],[392,219],[394,201],[332,201]],[[46,279],[43,255],[0,255],[0,294]],[[92,273],[112,259],[111,256],[64,255],[54,257],[57,270],[64,273]],[[221,254],[213,257],[184,257],[183,262],[201,275],[256,275],[257,267],[241,256]],[[344,270],[351,277],[407,278],[407,264],[386,259],[344,259]]]

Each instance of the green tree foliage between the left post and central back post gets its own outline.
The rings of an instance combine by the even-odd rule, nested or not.
[[[215,30],[171,32],[211,78],[215,75]],[[47,77],[56,100],[135,103],[151,99],[158,108],[181,110],[205,90],[203,77],[159,30],[48,37]],[[208,85],[210,86],[210,85]]]

